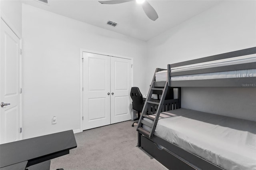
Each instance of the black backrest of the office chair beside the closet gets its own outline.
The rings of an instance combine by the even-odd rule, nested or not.
[[[138,87],[132,87],[130,96],[132,98],[132,109],[142,112],[144,101],[140,89]]]

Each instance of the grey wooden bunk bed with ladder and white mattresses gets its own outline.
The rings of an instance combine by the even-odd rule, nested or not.
[[[256,122],[181,108],[181,87],[256,88],[256,47],[169,64],[156,69],[142,115],[138,146],[174,170],[255,170]],[[160,102],[150,102],[162,87]],[[164,100],[168,89],[178,99]],[[253,102],[253,101],[252,101]],[[255,101],[254,101],[255,102]]]

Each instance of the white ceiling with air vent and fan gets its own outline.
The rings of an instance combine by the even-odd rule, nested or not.
[[[220,0],[148,0],[158,13],[156,21],[150,20],[136,2],[113,5],[100,4],[97,0],[48,0],[48,5],[36,0],[22,2],[147,41],[220,3]],[[108,20],[118,25],[109,26],[106,24]]]

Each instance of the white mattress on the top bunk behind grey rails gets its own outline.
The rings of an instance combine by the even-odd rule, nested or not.
[[[232,61],[228,59],[218,60],[215,63],[199,63],[194,65],[186,65],[185,67],[172,68],[172,72],[177,71],[189,71],[193,69],[204,69],[210,67],[219,67],[224,65],[234,65],[241,63],[256,62],[256,57],[253,55],[246,55],[242,57],[231,58]],[[215,73],[202,73],[193,75],[181,75],[172,76],[171,81],[182,81],[182,80],[201,80],[201,79],[225,79],[225,78],[240,78],[240,77],[256,77],[256,69],[246,69],[246,70],[235,70],[235,71],[221,71]],[[159,71],[156,73],[156,81],[168,81],[167,70]]]

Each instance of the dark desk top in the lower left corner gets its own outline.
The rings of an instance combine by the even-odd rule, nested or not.
[[[32,166],[69,154],[69,150],[76,147],[73,130],[0,144],[0,169],[25,161],[26,167]]]

